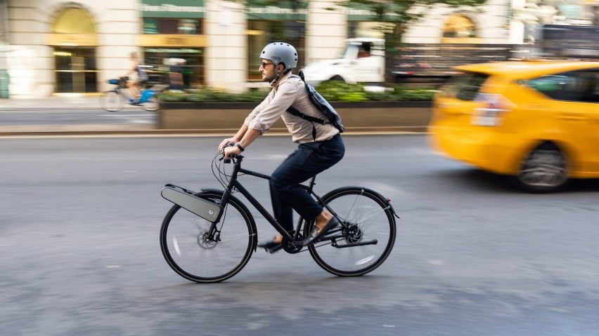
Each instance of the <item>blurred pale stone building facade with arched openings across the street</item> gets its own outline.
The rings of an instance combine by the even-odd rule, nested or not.
[[[404,42],[522,43],[527,25],[541,20],[592,23],[584,8],[595,3],[581,1],[562,9],[560,0],[437,6]],[[243,90],[259,86],[259,52],[269,41],[296,46],[301,67],[336,58],[348,37],[381,34],[372,13],[337,0],[0,0],[0,15],[0,72],[8,70],[11,98],[106,90],[105,80],[127,72],[132,51],[151,66],[150,81],[166,81],[172,60],[185,60],[186,86]]]

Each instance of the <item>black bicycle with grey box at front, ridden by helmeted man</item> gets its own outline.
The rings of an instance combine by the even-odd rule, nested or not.
[[[224,163],[233,163],[227,174]],[[314,193],[316,177],[305,189],[341,223],[304,248],[302,240],[314,220],[299,218],[288,232],[238,181],[241,175],[269,180],[269,175],[241,167],[243,156],[231,160],[219,153],[212,160],[212,173],[224,190],[202,188],[195,192],[174,184],[162,188],[162,196],[174,203],[160,229],[160,248],[174,271],[191,281],[214,283],[237,274],[257,249],[257,229],[250,210],[235,194],[252,203],[283,235],[283,250],[308,250],[314,261],[337,276],[367,274],[387,259],[395,242],[395,217],[389,199],[366,187],[341,187],[325,196]]]

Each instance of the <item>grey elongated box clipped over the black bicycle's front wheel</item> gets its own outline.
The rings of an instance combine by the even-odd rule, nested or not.
[[[215,222],[221,213],[222,208],[215,203],[200,199],[190,194],[188,190],[177,187],[176,185],[166,185],[160,192],[162,197],[191,213],[195,213],[209,222]]]

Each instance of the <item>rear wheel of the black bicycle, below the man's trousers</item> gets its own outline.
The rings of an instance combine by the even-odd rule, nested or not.
[[[308,246],[316,264],[337,276],[361,276],[379,267],[391,253],[397,231],[387,200],[361,187],[335,189],[322,199],[337,213],[342,225]],[[313,225],[311,221],[304,226],[304,235]],[[347,245],[374,240],[377,243],[372,245]]]

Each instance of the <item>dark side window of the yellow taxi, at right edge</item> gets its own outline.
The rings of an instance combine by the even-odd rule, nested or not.
[[[599,69],[541,76],[527,85],[555,100],[599,102]]]

